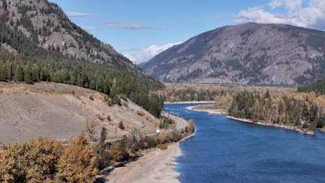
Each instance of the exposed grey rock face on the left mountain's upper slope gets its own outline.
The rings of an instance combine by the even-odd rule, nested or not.
[[[90,62],[138,69],[130,60],[74,24],[63,10],[47,0],[1,0],[1,21],[44,49]],[[1,40],[2,42],[2,40]],[[8,51],[8,48],[3,50]]]

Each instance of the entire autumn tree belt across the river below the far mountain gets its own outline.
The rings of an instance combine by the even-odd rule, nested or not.
[[[214,100],[215,107],[253,122],[315,130],[325,125],[324,80],[305,87],[167,84],[166,101]],[[309,92],[309,93],[303,93]],[[203,96],[203,97],[200,97]]]

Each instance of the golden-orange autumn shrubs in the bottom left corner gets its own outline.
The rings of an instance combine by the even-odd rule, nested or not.
[[[0,182],[94,182],[94,150],[79,134],[69,145],[38,138],[0,146]]]

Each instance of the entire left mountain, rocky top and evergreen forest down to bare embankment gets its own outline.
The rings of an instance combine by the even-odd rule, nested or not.
[[[60,82],[92,89],[121,104],[129,98],[158,117],[164,85],[113,47],[76,26],[47,0],[0,0],[0,81]]]

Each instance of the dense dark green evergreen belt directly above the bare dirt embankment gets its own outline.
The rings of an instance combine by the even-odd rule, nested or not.
[[[150,92],[143,82],[99,64],[71,60],[39,61],[0,53],[0,81],[8,80],[76,85],[108,94],[115,103],[125,96],[156,117],[163,110],[163,98]]]

